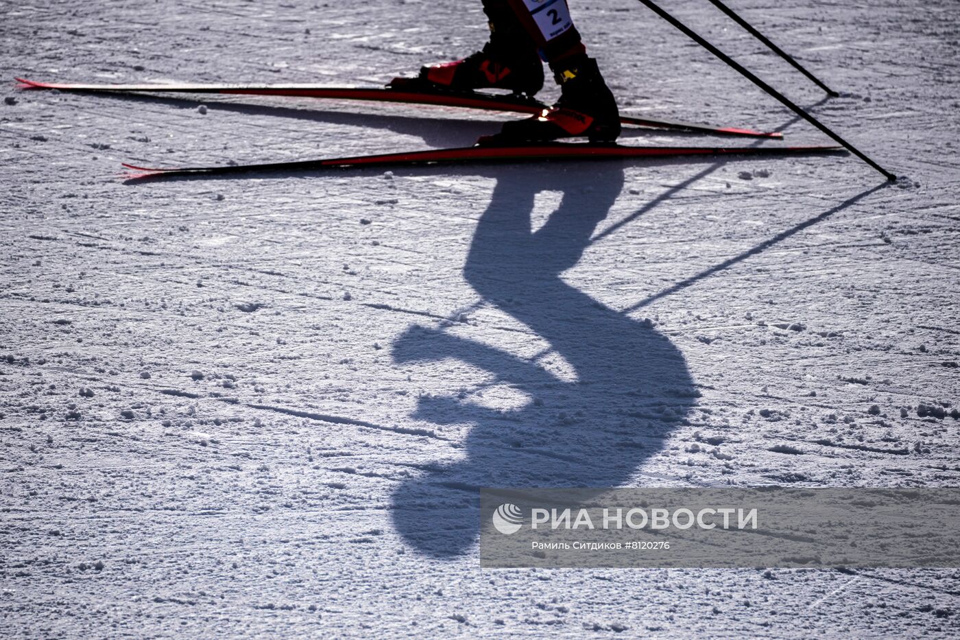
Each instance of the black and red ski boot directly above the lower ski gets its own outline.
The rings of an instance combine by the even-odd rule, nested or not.
[[[555,140],[586,135],[590,142],[612,142],[620,135],[620,111],[597,62],[586,55],[554,68],[561,96],[550,109],[526,120],[503,125],[498,135],[481,144],[504,144]]]

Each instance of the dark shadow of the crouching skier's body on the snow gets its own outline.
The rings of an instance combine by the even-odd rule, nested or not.
[[[464,274],[489,304],[546,340],[545,353],[517,357],[422,327],[396,339],[397,363],[455,358],[526,399],[499,409],[475,405],[465,393],[420,398],[416,418],[472,425],[457,459],[423,467],[396,489],[396,529],[421,553],[468,551],[479,528],[477,488],[622,485],[684,418],[696,392],[680,352],[648,323],[604,307],[561,277],[581,258],[623,183],[622,168],[609,164],[498,175]],[[534,233],[540,190],[564,195]],[[541,366],[560,358],[572,375]]]

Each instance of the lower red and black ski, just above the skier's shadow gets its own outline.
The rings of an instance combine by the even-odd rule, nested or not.
[[[168,176],[214,176],[266,171],[317,171],[348,167],[396,167],[420,164],[454,164],[467,162],[524,162],[538,160],[624,160],[636,158],[674,158],[682,156],[774,156],[842,152],[837,146],[802,147],[638,147],[590,142],[542,142],[511,146],[473,146],[450,149],[429,149],[349,158],[259,162],[219,166],[146,167],[124,163],[137,173],[128,179]]]

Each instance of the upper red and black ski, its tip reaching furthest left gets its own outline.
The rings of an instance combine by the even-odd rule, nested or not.
[[[39,83],[25,78],[15,78],[21,89],[59,89],[76,93],[215,93],[231,95],[295,96],[326,98],[331,100],[365,100],[372,102],[396,102],[441,107],[460,107],[487,111],[511,111],[515,113],[540,113],[549,105],[514,95],[495,95],[479,91],[444,91],[428,89],[415,79],[397,78],[388,86],[321,86],[321,85],[73,85]],[[402,82],[407,81],[407,82]],[[622,124],[644,129],[659,129],[712,135],[742,135],[746,137],[782,138],[780,133],[759,132],[736,127],[713,127],[681,120],[660,120],[624,116]]]

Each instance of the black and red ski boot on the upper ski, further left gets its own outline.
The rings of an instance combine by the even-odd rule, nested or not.
[[[505,88],[533,96],[543,88],[543,62],[537,51],[502,43],[492,38],[481,51],[464,60],[424,66],[420,83],[435,88],[468,91]]]

